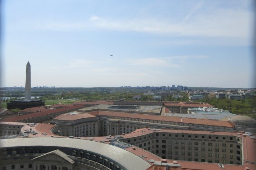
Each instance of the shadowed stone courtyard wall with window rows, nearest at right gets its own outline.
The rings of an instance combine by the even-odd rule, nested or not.
[[[120,140],[164,159],[242,163],[242,138],[236,136],[154,132]]]

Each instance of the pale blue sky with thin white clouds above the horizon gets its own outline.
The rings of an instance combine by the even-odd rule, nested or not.
[[[32,87],[255,88],[254,20],[253,0],[2,0],[0,86],[29,61]]]

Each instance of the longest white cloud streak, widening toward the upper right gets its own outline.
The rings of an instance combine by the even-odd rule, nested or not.
[[[37,22],[36,28],[62,31],[109,29],[116,31],[138,31],[174,36],[242,37],[250,36],[253,14],[245,10],[217,9],[209,13],[194,13],[202,7],[199,2],[180,21],[172,18],[101,18],[92,15],[84,21]],[[193,15],[193,18],[192,18]],[[184,22],[185,21],[185,22]]]

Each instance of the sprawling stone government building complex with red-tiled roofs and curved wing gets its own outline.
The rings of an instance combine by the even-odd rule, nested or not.
[[[0,116],[0,170],[256,169],[254,119],[186,117],[185,107],[212,106],[87,101]]]

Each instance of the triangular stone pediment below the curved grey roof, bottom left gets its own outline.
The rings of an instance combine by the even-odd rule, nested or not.
[[[70,157],[68,157],[64,152],[61,152],[58,149],[55,151],[43,154],[39,157],[35,157],[32,160],[33,161],[53,161],[53,162],[70,163],[70,164],[74,163],[74,161]]]

